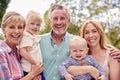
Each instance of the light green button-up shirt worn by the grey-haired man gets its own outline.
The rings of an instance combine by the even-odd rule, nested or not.
[[[72,34],[66,33],[58,47],[54,43],[51,33],[41,36],[40,47],[44,64],[43,74],[46,80],[64,80],[58,72],[58,66],[69,56],[68,46],[72,37]]]

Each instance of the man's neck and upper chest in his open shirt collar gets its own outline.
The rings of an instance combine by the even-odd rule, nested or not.
[[[59,46],[60,43],[62,42],[62,38],[64,37],[64,35],[65,34],[56,34],[52,32],[52,38],[57,46]]]

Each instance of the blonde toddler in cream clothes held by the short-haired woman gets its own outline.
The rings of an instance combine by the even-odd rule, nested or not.
[[[20,42],[21,64],[24,70],[24,75],[27,75],[31,70],[31,65],[37,65],[41,62],[42,56],[40,50],[40,36],[37,33],[40,31],[42,24],[41,15],[35,11],[29,11],[26,16],[26,26],[23,38]]]

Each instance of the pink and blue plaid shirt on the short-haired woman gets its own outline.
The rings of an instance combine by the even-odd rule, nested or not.
[[[4,41],[0,41],[0,80],[19,80],[22,76],[19,50],[15,54]]]

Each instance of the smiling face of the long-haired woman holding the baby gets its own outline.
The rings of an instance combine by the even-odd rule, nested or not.
[[[89,47],[96,47],[100,45],[100,34],[92,23],[88,23],[84,29],[84,38],[86,39]]]

